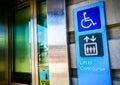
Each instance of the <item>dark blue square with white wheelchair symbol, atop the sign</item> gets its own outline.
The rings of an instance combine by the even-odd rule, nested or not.
[[[99,7],[89,8],[77,12],[78,31],[88,31],[101,28]]]

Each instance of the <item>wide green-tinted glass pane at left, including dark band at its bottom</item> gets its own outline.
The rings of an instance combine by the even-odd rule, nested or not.
[[[31,83],[30,7],[15,12],[13,29],[13,82]]]

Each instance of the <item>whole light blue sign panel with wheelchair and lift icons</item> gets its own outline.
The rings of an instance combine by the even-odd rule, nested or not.
[[[103,2],[73,12],[78,85],[111,85]]]

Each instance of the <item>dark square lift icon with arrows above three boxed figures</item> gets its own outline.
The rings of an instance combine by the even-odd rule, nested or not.
[[[79,40],[81,57],[103,56],[101,33],[82,35]]]

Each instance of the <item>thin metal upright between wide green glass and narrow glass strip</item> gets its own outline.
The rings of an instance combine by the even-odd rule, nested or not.
[[[31,59],[32,85],[38,85],[38,57],[37,57],[37,14],[36,0],[30,0],[31,6]]]

